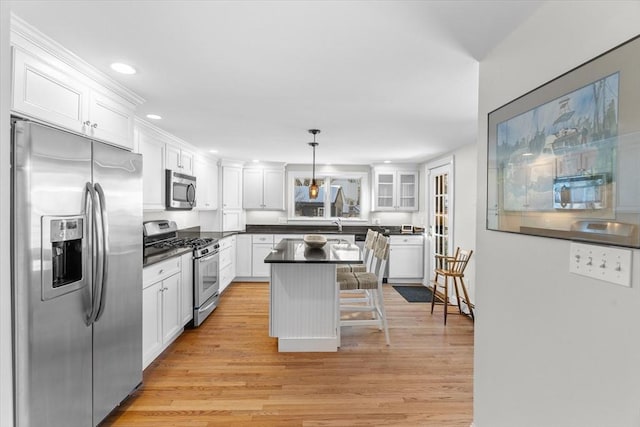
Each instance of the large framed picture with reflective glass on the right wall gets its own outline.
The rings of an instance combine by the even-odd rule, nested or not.
[[[487,230],[640,248],[640,36],[487,120]]]

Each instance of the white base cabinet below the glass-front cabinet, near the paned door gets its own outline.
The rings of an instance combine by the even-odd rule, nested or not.
[[[389,239],[389,278],[391,282],[422,283],[424,276],[424,237],[399,235]]]

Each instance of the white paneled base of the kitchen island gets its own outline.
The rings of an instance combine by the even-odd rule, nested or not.
[[[337,351],[339,302],[335,264],[271,264],[269,335],[278,351]]]

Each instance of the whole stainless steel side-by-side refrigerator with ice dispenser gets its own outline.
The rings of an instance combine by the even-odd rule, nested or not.
[[[142,382],[142,157],[12,123],[18,427],[87,427]]]

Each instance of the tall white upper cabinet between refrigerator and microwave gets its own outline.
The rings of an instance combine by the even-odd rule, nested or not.
[[[145,210],[165,208],[165,143],[142,125],[136,125],[138,152],[142,154],[142,203]]]

